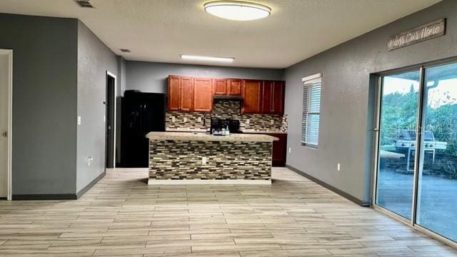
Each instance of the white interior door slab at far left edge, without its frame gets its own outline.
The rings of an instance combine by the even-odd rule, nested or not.
[[[8,196],[9,55],[0,52],[0,197]]]

